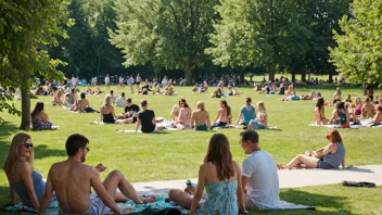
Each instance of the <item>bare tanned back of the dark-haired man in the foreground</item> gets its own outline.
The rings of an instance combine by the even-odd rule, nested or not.
[[[49,177],[64,213],[81,214],[90,207],[91,180],[99,178],[94,167],[68,160],[55,163]]]

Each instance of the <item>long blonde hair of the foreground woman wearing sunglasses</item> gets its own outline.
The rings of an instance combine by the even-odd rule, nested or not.
[[[10,173],[13,165],[20,160],[20,147],[23,147],[24,143],[30,139],[30,136],[25,132],[18,132],[12,139],[10,152],[4,164],[4,172]],[[29,163],[30,167],[34,166],[34,151],[29,153],[29,156],[26,157],[26,162]]]

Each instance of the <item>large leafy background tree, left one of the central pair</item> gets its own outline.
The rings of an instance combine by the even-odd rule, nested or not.
[[[217,0],[118,0],[118,15],[111,41],[125,54],[125,66],[150,64],[153,67],[192,71],[208,58],[207,35],[213,31]]]

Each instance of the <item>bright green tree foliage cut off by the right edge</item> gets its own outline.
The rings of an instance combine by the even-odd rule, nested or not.
[[[382,1],[355,0],[352,15],[334,30],[338,48],[329,48],[331,62],[351,83],[382,83]]]

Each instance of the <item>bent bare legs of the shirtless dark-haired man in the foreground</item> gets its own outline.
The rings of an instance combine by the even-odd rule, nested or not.
[[[142,204],[143,201],[154,202],[155,199],[144,199],[138,195],[136,189],[131,186],[129,181],[119,170],[112,170],[103,181],[107,193],[115,200],[122,200],[120,194],[117,194],[116,190],[119,188],[120,192],[128,199],[132,200],[136,204]],[[125,200],[125,199],[123,199]]]

